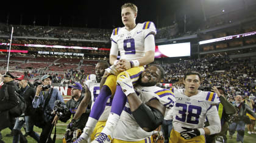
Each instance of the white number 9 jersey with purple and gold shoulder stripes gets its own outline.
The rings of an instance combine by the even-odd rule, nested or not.
[[[112,44],[117,44],[120,52],[120,59],[134,60],[142,58],[146,52],[154,49],[147,49],[144,47],[144,39],[149,35],[155,35],[157,30],[153,22],[138,23],[131,31],[126,30],[125,27],[115,28],[110,39]],[[117,50],[117,49],[116,49]],[[110,53],[111,54],[111,53]],[[117,53],[118,54],[118,53]],[[116,56],[117,56],[116,54]]]

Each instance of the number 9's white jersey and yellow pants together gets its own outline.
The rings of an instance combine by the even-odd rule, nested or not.
[[[128,31],[125,27],[115,28],[110,37],[112,41],[112,47],[110,49],[110,55],[118,56],[120,53],[120,59],[126,59],[128,61],[142,58],[146,52],[155,51],[154,48],[144,46],[144,39],[149,35],[155,35],[157,30],[153,22],[144,22],[143,24],[138,23],[133,30]],[[144,70],[144,67],[133,67],[126,70],[133,83],[138,81],[140,73]],[[120,73],[118,76],[124,75]],[[116,76],[108,76],[105,84],[107,85],[112,93],[116,90]]]

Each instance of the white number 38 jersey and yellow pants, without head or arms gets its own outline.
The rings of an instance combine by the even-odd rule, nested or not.
[[[184,131],[182,127],[204,128],[206,116],[208,119],[216,118],[216,122],[218,122],[219,115],[215,106],[220,102],[218,96],[213,92],[198,90],[197,95],[188,97],[184,94],[184,89],[172,88],[172,91],[175,94],[176,103],[172,108],[173,128],[171,131],[169,143],[205,142],[205,138],[202,135],[191,139],[184,139],[180,136],[180,132]],[[214,133],[211,131],[211,134]]]

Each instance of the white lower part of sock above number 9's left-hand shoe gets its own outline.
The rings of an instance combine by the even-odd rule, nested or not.
[[[85,124],[84,131],[83,131],[82,135],[80,135],[80,136],[82,138],[84,138],[85,140],[90,138],[91,133],[93,133],[93,130],[94,130],[97,122],[98,122],[98,120],[89,117],[87,123]]]

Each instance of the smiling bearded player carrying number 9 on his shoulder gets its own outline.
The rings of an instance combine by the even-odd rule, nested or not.
[[[117,82],[127,96],[124,111],[117,125],[112,126],[112,133],[104,127],[93,142],[152,142],[152,131],[162,124],[165,108],[171,108],[175,101],[170,90],[155,86],[163,75],[159,65],[146,68],[135,86],[137,92],[129,74],[121,76]]]

